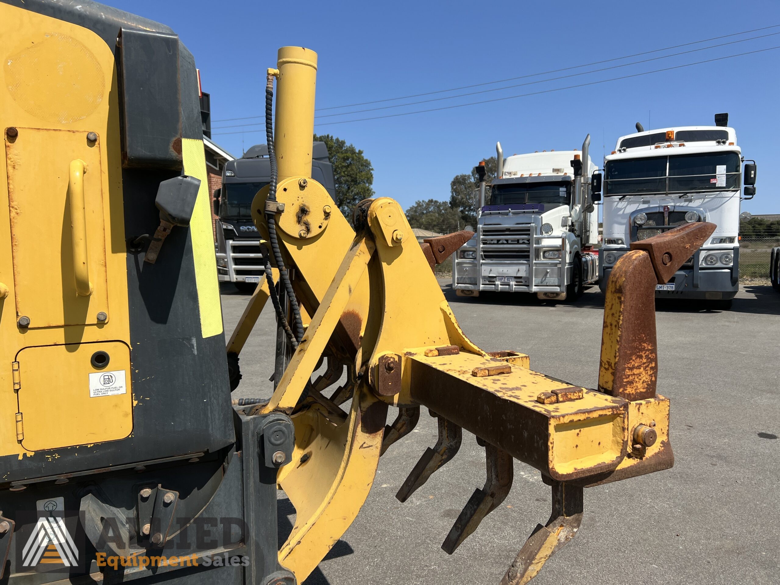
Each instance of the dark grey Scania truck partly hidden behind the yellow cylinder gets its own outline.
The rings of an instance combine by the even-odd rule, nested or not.
[[[311,173],[335,200],[333,165],[324,142],[314,142]],[[268,145],[257,144],[241,158],[225,163],[222,187],[215,191],[218,278],[220,282],[233,282],[242,291],[254,291],[264,274],[260,236],[252,222],[251,207],[255,193],[270,181]]]

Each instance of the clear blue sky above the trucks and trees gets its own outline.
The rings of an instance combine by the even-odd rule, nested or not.
[[[216,122],[259,115],[264,71],[276,50],[303,45],[319,54],[317,108],[382,100],[579,66],[672,45],[780,25],[780,3],[686,2],[205,2],[109,0],[118,8],[168,24],[195,55]],[[449,94],[504,87],[589,72],[680,51],[768,35],[704,51],[524,87],[321,118],[317,122],[387,115],[470,101],[526,94],[679,66],[704,59],[780,46],[780,27],[654,52],[598,66],[570,69]],[[780,213],[771,182],[780,158],[780,49],[726,58],[662,73],[504,101],[316,126],[362,148],[374,165],[374,190],[404,207],[419,199],[449,199],[449,182],[481,158],[579,148],[591,134],[591,156],[601,161],[619,136],[663,126],[712,124],[729,112],[746,158],[758,163],[758,190],[743,209]],[[396,105],[390,101],[359,108]],[[232,154],[264,142],[262,126],[214,129]],[[236,134],[218,134],[243,132]]]

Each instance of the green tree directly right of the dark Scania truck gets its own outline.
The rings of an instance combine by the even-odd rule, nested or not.
[[[336,184],[336,204],[349,222],[352,222],[352,209],[363,199],[374,197],[371,185],[374,183],[374,167],[353,144],[330,134],[314,134],[315,141],[321,141],[328,147],[328,158],[333,165]]]

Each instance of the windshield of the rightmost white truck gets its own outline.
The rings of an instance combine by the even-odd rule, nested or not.
[[[736,152],[608,161],[605,195],[737,190],[739,165]]]

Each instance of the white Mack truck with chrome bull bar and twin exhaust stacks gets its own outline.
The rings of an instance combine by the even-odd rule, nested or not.
[[[597,282],[598,197],[583,181],[583,173],[589,177],[595,169],[589,145],[590,134],[581,152],[504,158],[501,143],[496,144],[497,178],[488,193],[484,163],[477,167],[477,231],[453,260],[458,296],[495,291],[571,301],[583,286]]]

